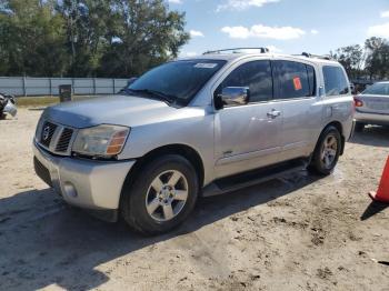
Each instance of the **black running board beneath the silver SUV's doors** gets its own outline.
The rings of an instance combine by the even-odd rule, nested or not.
[[[291,172],[306,170],[307,165],[307,159],[296,159],[245,173],[221,178],[206,185],[202,189],[202,197],[225,194],[227,192],[259,184]]]

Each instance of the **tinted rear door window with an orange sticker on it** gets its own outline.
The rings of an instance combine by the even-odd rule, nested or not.
[[[275,61],[278,99],[315,96],[315,69],[295,61]]]

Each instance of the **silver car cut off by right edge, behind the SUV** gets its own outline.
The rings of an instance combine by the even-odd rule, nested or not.
[[[355,97],[356,131],[367,124],[389,126],[389,81],[377,82]]]

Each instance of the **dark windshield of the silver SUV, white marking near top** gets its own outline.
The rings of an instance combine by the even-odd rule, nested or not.
[[[187,106],[206,82],[223,66],[223,60],[182,60],[157,67],[127,90],[166,97],[170,103]]]

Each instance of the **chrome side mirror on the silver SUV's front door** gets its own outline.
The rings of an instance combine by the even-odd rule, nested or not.
[[[215,104],[217,109],[223,107],[243,106],[249,102],[250,89],[247,87],[226,87],[217,94]]]

